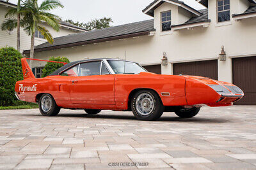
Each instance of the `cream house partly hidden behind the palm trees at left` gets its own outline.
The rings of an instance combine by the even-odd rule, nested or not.
[[[16,4],[7,3],[6,1],[0,0],[0,25],[6,20],[4,15],[10,8],[17,8]],[[52,37],[67,36],[69,34],[76,34],[78,32],[85,32],[86,29],[77,27],[76,25],[69,24],[67,22],[60,21],[61,29],[59,32],[54,31],[48,25],[44,25],[52,34]],[[35,45],[40,45],[47,42],[39,31],[35,34]],[[29,36],[22,28],[20,28],[20,50],[28,50],[30,48],[31,36]],[[17,48],[17,29],[13,31],[1,31],[0,29],[0,48],[3,46],[13,46]]]

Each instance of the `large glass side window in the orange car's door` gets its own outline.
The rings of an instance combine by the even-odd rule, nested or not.
[[[80,64],[78,76],[100,75],[101,61]]]

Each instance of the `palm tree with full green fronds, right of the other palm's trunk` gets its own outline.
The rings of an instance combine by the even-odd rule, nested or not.
[[[47,30],[44,24],[52,27],[55,31],[60,31],[60,17],[49,13],[50,10],[56,8],[63,8],[63,5],[58,0],[44,0],[40,6],[38,6],[37,0],[26,0],[20,6],[19,13],[22,16],[20,18],[20,26],[31,35],[31,48],[30,58],[34,58],[34,46],[35,46],[35,31],[38,30],[49,42],[53,43],[52,35]],[[11,17],[4,21],[2,24],[2,30],[13,30],[17,27],[17,19],[12,16],[17,13],[17,10],[11,9],[6,13],[5,17]]]

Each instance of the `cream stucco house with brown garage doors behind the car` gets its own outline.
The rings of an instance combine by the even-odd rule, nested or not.
[[[154,73],[195,74],[234,83],[245,92],[239,104],[256,104],[256,1],[197,1],[204,10],[177,0],[153,1],[143,10],[152,20],[55,38],[53,45],[36,46],[35,57],[124,59],[126,51],[127,60]],[[222,46],[226,57],[220,58]],[[24,53],[29,57],[29,50]],[[166,66],[161,65],[163,53]]]

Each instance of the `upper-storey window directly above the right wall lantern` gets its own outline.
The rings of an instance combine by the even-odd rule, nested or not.
[[[230,0],[217,1],[218,22],[230,20]]]

